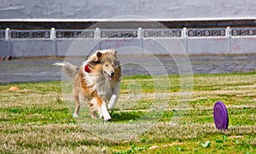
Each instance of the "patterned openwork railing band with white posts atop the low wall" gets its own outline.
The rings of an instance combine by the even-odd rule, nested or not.
[[[255,37],[256,28],[183,29],[91,29],[91,30],[0,30],[0,39],[97,39],[97,38],[212,38]]]

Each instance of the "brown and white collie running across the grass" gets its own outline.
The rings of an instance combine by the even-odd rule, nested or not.
[[[74,80],[73,97],[76,108],[73,117],[79,117],[80,104],[87,100],[90,117],[98,118],[98,112],[99,118],[111,121],[108,110],[113,109],[119,98],[121,78],[119,58],[115,50],[97,50],[79,68],[68,62],[54,65],[62,66],[67,75]]]

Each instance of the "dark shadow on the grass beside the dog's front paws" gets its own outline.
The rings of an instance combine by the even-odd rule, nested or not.
[[[143,117],[144,112],[140,111],[113,111],[111,113],[111,121],[112,122],[130,122],[133,120],[137,120],[140,117]]]

